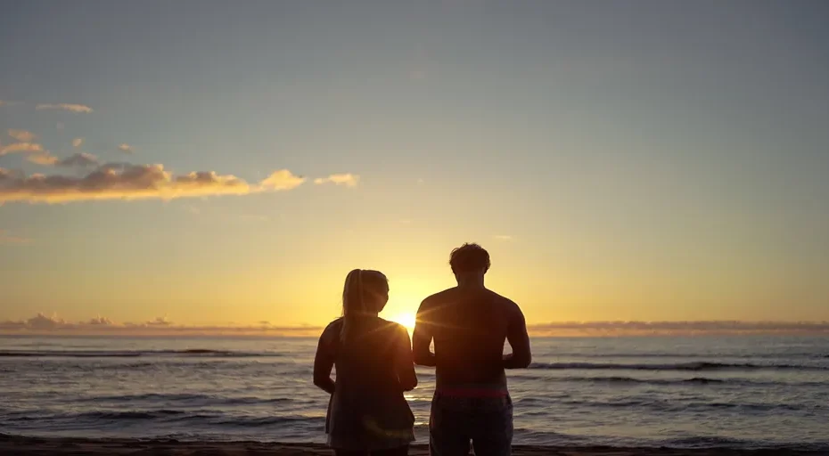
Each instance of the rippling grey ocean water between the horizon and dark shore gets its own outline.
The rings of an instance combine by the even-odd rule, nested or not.
[[[829,338],[534,338],[515,444],[829,452]],[[312,338],[0,337],[0,433],[324,442]],[[434,371],[406,395],[420,443]]]

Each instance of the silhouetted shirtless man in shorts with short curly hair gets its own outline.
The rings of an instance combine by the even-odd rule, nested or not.
[[[527,324],[518,305],[484,286],[484,248],[464,244],[452,250],[449,265],[457,287],[423,300],[412,342],[415,363],[436,368],[429,450],[466,455],[472,441],[477,456],[509,455],[513,403],[504,370],[529,366]],[[512,354],[504,354],[505,340]]]

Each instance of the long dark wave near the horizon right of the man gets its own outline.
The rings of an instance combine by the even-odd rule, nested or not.
[[[611,362],[533,362],[529,369],[539,370],[621,370],[621,371],[829,371],[824,366],[796,364],[753,364],[751,362],[678,362],[672,364],[617,364]]]

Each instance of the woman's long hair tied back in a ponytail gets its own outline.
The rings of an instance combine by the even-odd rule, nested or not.
[[[382,311],[388,287],[389,280],[379,271],[355,269],[346,276],[342,288],[341,341],[355,338],[365,317]]]

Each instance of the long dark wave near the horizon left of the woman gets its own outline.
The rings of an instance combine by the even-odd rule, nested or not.
[[[209,350],[205,348],[189,348],[185,350],[4,350],[0,351],[0,358],[11,357],[58,357],[58,358],[135,358],[141,356],[152,357],[221,357],[221,358],[242,358],[242,357],[279,357],[284,354],[267,352],[236,352],[233,350]]]

